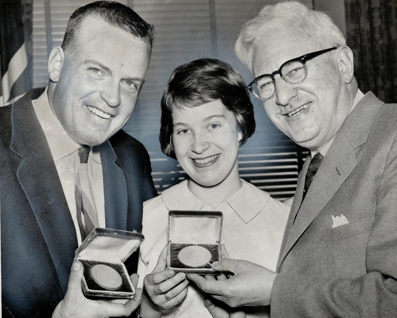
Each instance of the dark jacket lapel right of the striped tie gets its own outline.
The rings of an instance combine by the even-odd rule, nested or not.
[[[98,146],[102,162],[106,227],[127,229],[127,185],[109,141]]]

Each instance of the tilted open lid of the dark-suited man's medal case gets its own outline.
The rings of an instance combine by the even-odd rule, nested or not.
[[[76,250],[76,259],[124,262],[144,239],[141,233],[95,227]]]

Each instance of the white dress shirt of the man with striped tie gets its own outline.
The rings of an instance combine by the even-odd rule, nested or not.
[[[78,149],[81,145],[76,143],[66,133],[60,121],[51,110],[48,102],[47,89],[39,98],[32,100],[37,119],[44,131],[56,170],[58,171],[62,189],[66,197],[67,205],[76,229],[77,242],[81,244],[79,224],[77,223],[76,200],[75,200],[75,179],[79,168],[80,159]],[[91,185],[93,186],[92,197],[98,216],[98,224],[105,227],[105,203],[103,192],[102,163],[100,154],[96,147],[91,147],[88,158],[88,170]]]

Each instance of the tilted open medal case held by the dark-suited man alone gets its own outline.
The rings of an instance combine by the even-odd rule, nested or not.
[[[84,266],[85,295],[133,298],[135,288],[124,261],[144,239],[141,233],[95,227],[75,252],[75,260]]]

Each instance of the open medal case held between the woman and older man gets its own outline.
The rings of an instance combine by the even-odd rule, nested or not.
[[[218,211],[168,212],[167,268],[174,272],[220,275],[211,264],[221,260],[223,214]]]

